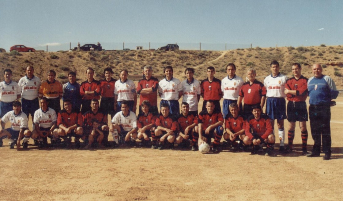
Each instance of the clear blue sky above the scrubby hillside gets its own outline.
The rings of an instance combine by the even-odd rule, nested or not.
[[[0,48],[49,51],[77,42],[104,49],[343,44],[343,1],[0,0]]]

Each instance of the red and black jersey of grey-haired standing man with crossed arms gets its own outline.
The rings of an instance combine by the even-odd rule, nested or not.
[[[141,94],[142,89],[151,88],[153,93],[151,94]],[[144,76],[143,79],[138,81],[137,84],[137,94],[141,94],[139,97],[139,105],[142,104],[143,100],[149,100],[151,106],[157,106],[157,89],[158,89],[158,79],[155,77],[151,77],[147,80]]]

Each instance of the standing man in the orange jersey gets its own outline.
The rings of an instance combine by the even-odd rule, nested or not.
[[[54,109],[56,113],[61,110],[60,99],[63,96],[62,84],[58,80],[55,80],[56,72],[49,70],[48,79],[43,81],[40,85],[38,96],[40,98],[46,97],[49,107]]]

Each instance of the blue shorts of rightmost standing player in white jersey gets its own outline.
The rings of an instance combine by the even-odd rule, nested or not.
[[[285,98],[268,97],[265,113],[271,120],[287,119]]]

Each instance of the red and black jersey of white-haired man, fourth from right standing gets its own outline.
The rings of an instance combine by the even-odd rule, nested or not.
[[[263,96],[266,96],[267,91],[262,82],[255,80],[251,85],[250,82],[245,82],[240,88],[239,96],[244,97],[244,104],[254,105],[260,104]]]

